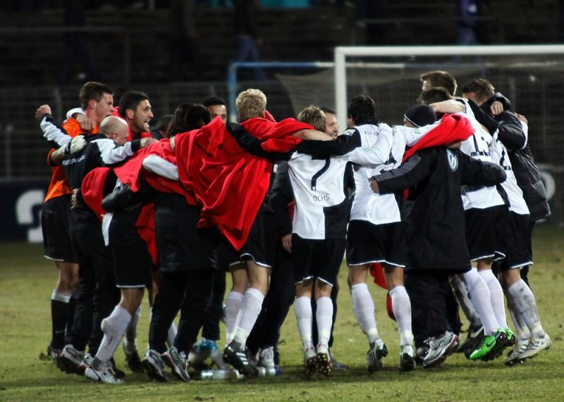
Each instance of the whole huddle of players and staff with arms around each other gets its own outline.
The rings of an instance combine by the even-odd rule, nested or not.
[[[45,256],[59,269],[49,356],[65,372],[122,384],[113,356],[123,339],[130,370],[158,381],[168,366],[188,382],[208,357],[219,370],[276,375],[293,304],[305,376],[346,370],[331,353],[343,256],[369,372],[388,355],[372,276],[388,290],[402,371],[455,351],[492,360],[508,349],[513,365],[550,348],[527,282],[534,222],[550,214],[527,119],[487,80],[466,84],[460,98],[444,71],[421,80],[403,126],[379,123],[374,100],[358,95],[342,133],[329,108],[276,121],[259,89],[238,95],[238,123],[214,97],[181,103],[154,133],[142,92],[114,107],[111,87],[87,82],[62,125],[39,106],[53,168]],[[233,287],[223,302],[226,272]]]

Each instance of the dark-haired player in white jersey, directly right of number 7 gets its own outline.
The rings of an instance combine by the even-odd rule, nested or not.
[[[367,99],[353,99],[349,104],[349,130],[377,132],[374,124],[376,110]],[[429,106],[414,106],[405,113],[405,125],[421,127],[436,120]],[[400,332],[400,363],[402,371],[415,368],[413,334],[411,328],[411,303],[403,286],[403,268],[407,256],[405,240],[405,218],[396,194],[375,194],[369,187],[369,177],[400,165],[405,146],[414,137],[412,129],[392,127],[393,146],[385,163],[376,166],[354,169],[355,194],[350,212],[347,236],[347,263],[349,267],[348,284],[353,297],[353,310],[362,332],[367,335],[369,351],[367,367],[369,372],[381,368],[381,359],[387,356],[388,349],[379,337],[374,319],[374,301],[367,287],[367,272],[372,263],[384,267],[386,285],[390,292],[393,313]],[[411,145],[411,144],[410,144]]]

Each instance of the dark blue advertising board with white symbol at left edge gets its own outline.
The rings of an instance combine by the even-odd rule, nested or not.
[[[0,241],[43,241],[41,208],[49,179],[0,180]]]

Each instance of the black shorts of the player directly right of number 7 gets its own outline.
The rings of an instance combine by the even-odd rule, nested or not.
[[[406,227],[405,222],[374,225],[366,220],[351,220],[347,232],[347,264],[386,263],[405,268]]]

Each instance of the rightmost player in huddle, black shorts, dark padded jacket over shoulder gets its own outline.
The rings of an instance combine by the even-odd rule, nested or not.
[[[508,177],[512,177],[518,185],[515,191],[507,191],[509,196],[517,195],[513,195],[516,201],[511,203],[510,200],[511,238],[508,241],[508,255],[498,265],[508,309],[517,330],[517,343],[505,360],[506,365],[513,365],[551,346],[551,339],[541,325],[534,294],[521,275],[532,260],[534,222],[550,215],[550,208],[539,169],[534,165],[527,142],[527,123],[510,112],[510,102],[505,96],[494,91],[491,82],[483,78],[462,87],[465,97],[472,99],[484,112],[491,113],[499,123],[497,139],[507,149],[505,153],[502,149],[499,158],[502,163],[510,164]],[[526,206],[519,203],[519,193]],[[515,203],[517,205],[513,206]]]

